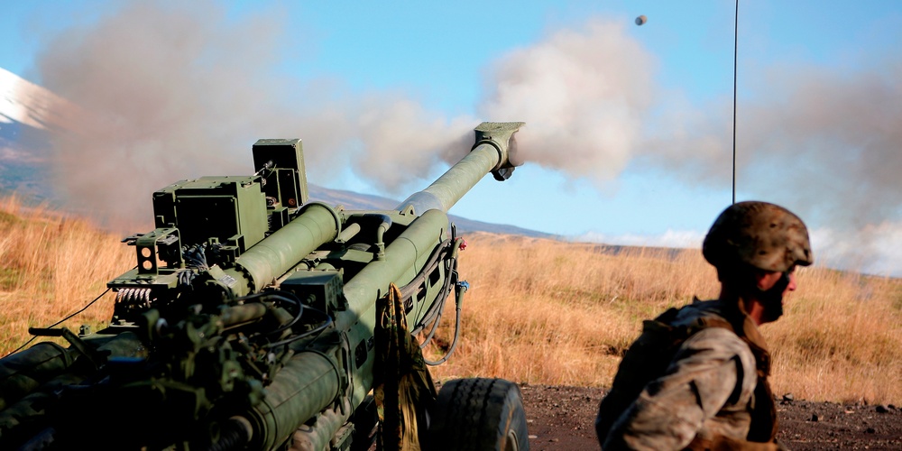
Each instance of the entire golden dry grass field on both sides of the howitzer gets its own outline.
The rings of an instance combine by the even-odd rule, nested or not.
[[[133,249],[87,220],[0,201],[0,355],[83,308],[133,266]],[[625,249],[474,234],[461,253],[462,341],[438,379],[498,376],[534,384],[607,386],[642,319],[717,293],[694,251]],[[902,404],[902,281],[804,268],[787,316],[763,327],[774,389],[797,399]],[[64,323],[95,327],[113,297]],[[450,306],[453,309],[453,306]],[[453,335],[446,312],[439,345]],[[438,355],[437,349],[428,350]]]

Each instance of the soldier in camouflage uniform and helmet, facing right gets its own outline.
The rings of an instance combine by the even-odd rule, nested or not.
[[[783,314],[796,266],[814,262],[805,224],[786,208],[741,202],[717,217],[702,253],[720,296],[645,321],[599,407],[605,451],[781,447],[758,327]]]

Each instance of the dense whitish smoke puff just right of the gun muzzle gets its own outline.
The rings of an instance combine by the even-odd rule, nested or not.
[[[480,111],[526,122],[518,135],[524,160],[612,179],[640,146],[655,67],[624,25],[592,20],[503,58]]]

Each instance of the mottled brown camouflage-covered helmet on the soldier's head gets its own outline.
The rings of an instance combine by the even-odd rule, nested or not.
[[[815,261],[805,223],[768,202],[740,202],[723,210],[702,244],[704,259],[720,269],[747,263],[764,271],[787,272]]]

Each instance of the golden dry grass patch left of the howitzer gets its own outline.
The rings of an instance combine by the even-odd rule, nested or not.
[[[0,200],[0,355],[22,345],[28,327],[47,327],[78,311],[132,268],[134,249],[121,238],[85,219]],[[98,327],[112,316],[114,299],[107,293],[61,326]]]

